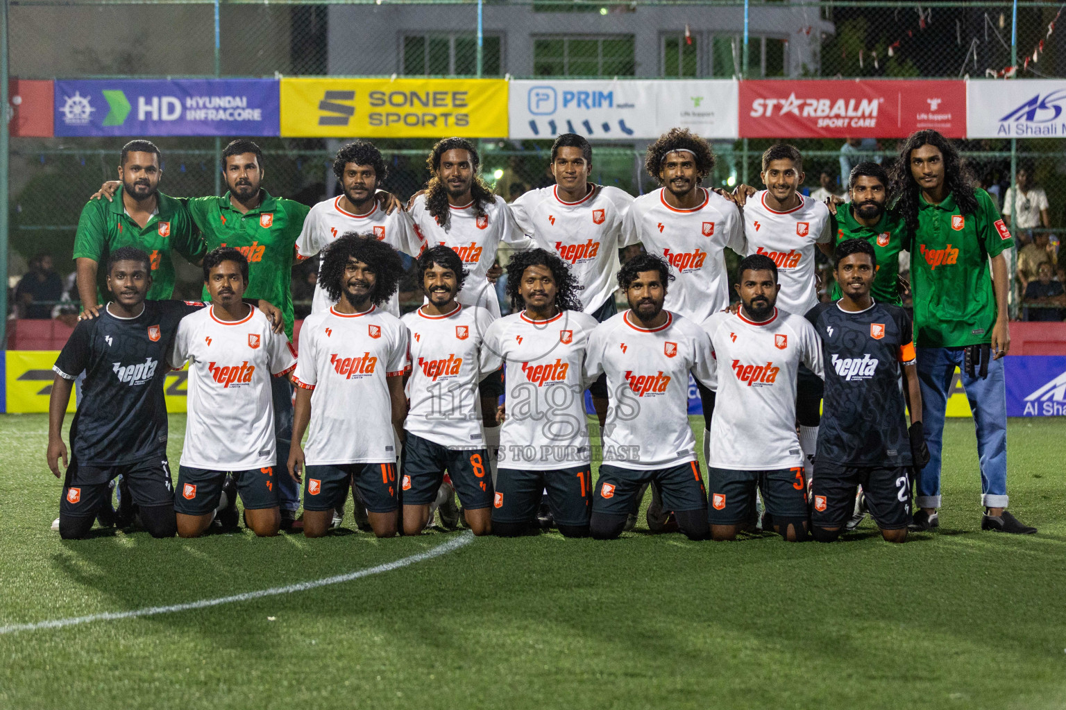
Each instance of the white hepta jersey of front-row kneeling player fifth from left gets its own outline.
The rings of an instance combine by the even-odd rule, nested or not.
[[[591,462],[582,367],[596,326],[587,313],[563,311],[531,320],[522,311],[488,327],[485,347],[506,366],[501,468],[546,470]]]

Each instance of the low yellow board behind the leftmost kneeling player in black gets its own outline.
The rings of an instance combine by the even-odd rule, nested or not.
[[[48,398],[52,393],[55,373],[52,365],[60,356],[52,350],[7,350],[5,382],[7,389],[7,413],[47,413]],[[172,414],[184,412],[187,370],[167,373],[164,393],[166,411]],[[75,411],[75,395],[71,393],[67,412]]]

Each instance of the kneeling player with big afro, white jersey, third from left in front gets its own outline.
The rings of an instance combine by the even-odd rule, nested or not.
[[[395,441],[403,441],[403,376],[410,363],[407,329],[381,306],[402,274],[400,254],[366,235],[344,234],[322,259],[320,282],[336,306],[309,315],[300,331],[304,354],[294,377],[288,462],[297,481],[304,468],[308,538],[329,530],[350,482],[367,506],[374,534],[389,538],[399,528]]]

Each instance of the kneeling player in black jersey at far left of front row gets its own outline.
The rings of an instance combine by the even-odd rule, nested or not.
[[[85,373],[81,401],[70,425],[74,456],[63,483],[60,535],[83,538],[103,507],[108,483],[122,474],[154,538],[169,538],[174,489],[166,464],[166,350],[185,315],[204,308],[184,301],[147,301],[148,254],[122,247],[108,259],[108,288],[115,300],[99,317],[81,320],[55,361],[48,404],[48,467],[60,476],[67,463],[63,416],[75,378]],[[164,363],[160,367],[160,363]]]

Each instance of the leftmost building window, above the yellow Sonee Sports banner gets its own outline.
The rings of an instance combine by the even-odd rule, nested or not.
[[[503,75],[502,43],[499,35],[482,38],[482,75]],[[475,76],[478,38],[472,34],[418,34],[403,38],[405,76]]]

